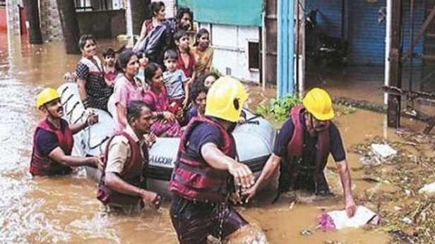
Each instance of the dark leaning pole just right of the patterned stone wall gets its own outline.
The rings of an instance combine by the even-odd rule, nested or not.
[[[64,33],[64,43],[67,54],[81,54],[78,48],[80,31],[76,14],[76,5],[71,0],[56,0],[57,10],[61,19],[62,32]],[[91,33],[87,33],[91,34]]]

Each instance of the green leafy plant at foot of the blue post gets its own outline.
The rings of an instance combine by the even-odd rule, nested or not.
[[[277,122],[285,121],[290,114],[290,110],[302,101],[297,95],[283,97],[280,100],[271,99],[268,105],[259,105],[256,109],[257,114],[275,119]]]

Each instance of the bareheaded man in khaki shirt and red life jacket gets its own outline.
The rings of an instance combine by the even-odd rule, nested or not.
[[[126,128],[107,142],[97,199],[129,213],[137,213],[144,202],[158,209],[161,197],[145,190],[148,149],[143,135],[150,133],[151,110],[140,100],[129,102],[126,110]]]

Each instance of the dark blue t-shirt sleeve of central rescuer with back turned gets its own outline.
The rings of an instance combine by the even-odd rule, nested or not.
[[[201,147],[211,142],[218,148],[222,147],[223,140],[220,130],[208,123],[201,123],[193,129],[186,145],[186,154],[193,159],[203,159]]]

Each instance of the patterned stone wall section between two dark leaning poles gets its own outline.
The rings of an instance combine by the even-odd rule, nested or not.
[[[40,0],[40,20],[44,42],[64,39],[56,0]]]

